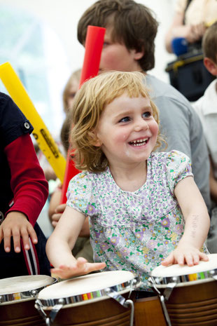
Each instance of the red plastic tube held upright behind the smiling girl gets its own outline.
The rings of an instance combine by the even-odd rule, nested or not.
[[[104,43],[105,32],[106,29],[103,27],[87,27],[87,36],[85,40],[85,57],[80,75],[79,88],[84,83],[84,81],[94,76],[97,76],[99,72],[99,63]],[[64,175],[64,182],[62,186],[61,203],[66,203],[66,191],[69,185],[69,181],[79,172],[80,171],[75,168],[73,161],[70,160],[70,155],[68,154],[66,161],[66,172]]]

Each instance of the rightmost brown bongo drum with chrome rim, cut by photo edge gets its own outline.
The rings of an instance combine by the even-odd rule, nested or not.
[[[149,285],[158,292],[169,326],[217,325],[217,254],[195,266],[158,266]]]

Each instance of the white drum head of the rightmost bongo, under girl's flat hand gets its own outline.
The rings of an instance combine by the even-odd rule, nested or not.
[[[151,272],[151,276],[155,278],[168,278],[173,276],[183,276],[195,273],[202,273],[205,271],[212,271],[217,269],[217,254],[207,254],[208,262],[200,261],[198,265],[188,266],[174,264],[170,266],[158,266]]]

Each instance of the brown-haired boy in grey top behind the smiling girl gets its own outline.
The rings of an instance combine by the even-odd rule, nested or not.
[[[186,97],[146,72],[155,65],[155,36],[158,22],[153,12],[133,0],[99,0],[78,22],[78,41],[85,46],[87,26],[106,27],[99,71],[141,71],[160,111],[160,128],[170,151],[176,149],[192,161],[195,182],[207,208],[209,157],[200,118]]]

